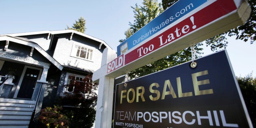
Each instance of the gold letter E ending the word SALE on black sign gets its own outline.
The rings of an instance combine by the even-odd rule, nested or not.
[[[199,90],[199,85],[210,84],[210,81],[209,79],[197,81],[197,76],[203,76],[207,74],[208,74],[208,70],[191,74],[195,95],[213,94],[213,89]]]

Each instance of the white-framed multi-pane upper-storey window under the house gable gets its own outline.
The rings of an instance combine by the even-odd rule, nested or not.
[[[74,51],[74,52],[72,52],[73,56],[76,56],[76,57],[82,58],[82,59],[86,59],[86,60],[90,60],[90,61],[92,60],[92,57],[93,57],[92,49],[74,44],[74,48],[72,51]]]

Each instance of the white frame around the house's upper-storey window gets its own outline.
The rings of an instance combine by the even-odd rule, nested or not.
[[[91,57],[91,60],[90,60],[90,59],[85,59],[85,58],[82,58],[82,57],[79,57],[79,56],[76,56],[76,53],[77,53],[77,48],[75,48],[76,46],[80,46],[80,47],[84,47],[84,48],[87,48],[87,49],[89,49],[89,50],[92,50],[92,57]],[[93,62],[94,56],[95,56],[95,50],[96,50],[96,49],[95,49],[94,47],[87,46],[87,45],[82,44],[82,43],[76,43],[76,42],[74,42],[74,43],[73,43],[73,46],[72,46],[72,51],[71,51],[70,56]]]

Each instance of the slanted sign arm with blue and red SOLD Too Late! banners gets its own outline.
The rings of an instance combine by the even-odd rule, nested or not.
[[[117,47],[128,51],[118,57],[120,64],[108,63],[107,74],[119,70],[121,75],[230,30],[251,11],[244,0],[179,0],[169,9],[124,41],[125,48]]]

